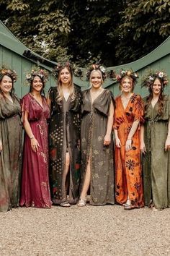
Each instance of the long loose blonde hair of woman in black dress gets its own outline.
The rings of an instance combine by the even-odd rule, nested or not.
[[[58,72],[58,82],[57,82],[57,90],[58,90],[58,97],[57,100],[61,101],[63,99],[63,89],[62,89],[62,82],[61,82],[61,72],[63,69],[67,69],[68,72],[71,74],[71,80],[68,84],[68,90],[70,92],[72,100],[75,98],[75,93],[74,93],[74,87],[73,87],[73,72],[71,67],[62,67],[59,72]]]

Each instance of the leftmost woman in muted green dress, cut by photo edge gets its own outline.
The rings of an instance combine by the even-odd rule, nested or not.
[[[17,74],[0,69],[0,211],[19,205],[19,177],[22,156],[22,124],[19,99],[14,95]]]

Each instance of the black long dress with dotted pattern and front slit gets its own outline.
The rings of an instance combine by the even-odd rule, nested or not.
[[[49,126],[50,144],[50,189],[54,204],[67,200],[63,176],[66,152],[70,155],[68,174],[68,202],[74,204],[79,198],[80,179],[80,124],[81,90],[74,86],[75,97],[58,100],[57,87],[50,88],[51,118]]]

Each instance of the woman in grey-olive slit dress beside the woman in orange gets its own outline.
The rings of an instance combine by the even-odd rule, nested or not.
[[[114,204],[112,124],[114,100],[102,88],[104,67],[94,64],[87,73],[91,88],[83,93],[81,122],[81,196],[78,206]]]

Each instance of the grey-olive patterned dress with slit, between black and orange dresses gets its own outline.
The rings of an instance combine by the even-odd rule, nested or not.
[[[91,164],[90,204],[115,203],[113,140],[104,147],[107,117],[113,95],[104,91],[92,103],[90,90],[83,92],[81,121],[81,188],[88,161]]]

